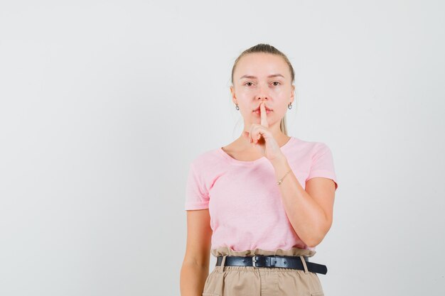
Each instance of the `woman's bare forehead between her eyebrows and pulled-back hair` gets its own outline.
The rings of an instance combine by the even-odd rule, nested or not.
[[[289,65],[284,58],[270,53],[249,53],[238,60],[234,76],[239,78],[244,75],[267,77],[271,74],[289,76]]]

